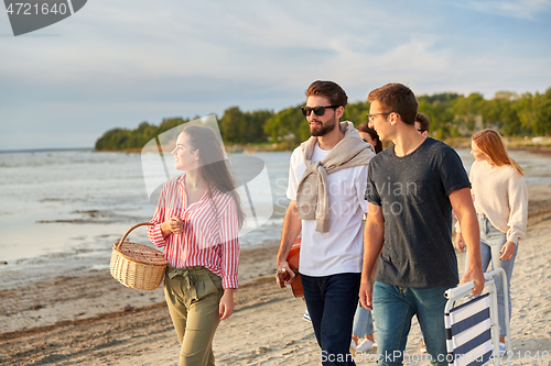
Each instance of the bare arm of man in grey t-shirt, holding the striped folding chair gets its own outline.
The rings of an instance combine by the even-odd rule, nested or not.
[[[463,275],[461,284],[474,281],[472,296],[478,295],[484,289],[484,271],[480,259],[480,230],[476,219],[475,207],[471,198],[471,189],[456,189],[450,193],[450,202],[457,215],[461,225],[462,239],[467,246],[467,270]]]

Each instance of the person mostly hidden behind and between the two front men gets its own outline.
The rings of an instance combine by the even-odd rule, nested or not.
[[[361,140],[375,147],[376,154],[382,151],[382,143],[377,131],[369,127],[367,124],[360,124],[358,125],[358,132]],[[360,339],[363,340],[360,341]],[[356,313],[354,314],[350,352],[354,354],[356,352],[366,352],[369,350],[377,350],[377,343],[375,343],[374,336],[374,319],[371,310],[361,308],[358,303]]]

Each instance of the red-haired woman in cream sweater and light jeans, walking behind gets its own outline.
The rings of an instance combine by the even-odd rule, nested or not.
[[[475,162],[469,179],[478,225],[480,228],[480,254],[483,269],[504,268],[507,289],[510,289],[512,267],[519,241],[525,237],[528,220],[528,189],[522,169],[507,149],[499,133],[484,130],[471,142]],[[465,249],[462,228],[456,224],[455,246]],[[511,315],[511,293],[505,299],[501,276],[495,276],[499,314],[499,346],[505,353],[505,301]]]

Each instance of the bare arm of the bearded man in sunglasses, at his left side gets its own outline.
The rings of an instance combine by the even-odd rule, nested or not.
[[[289,274],[289,279],[285,285],[290,285],[294,279],[294,273],[289,268],[287,257],[293,246],[294,240],[299,236],[302,229],[302,222],[299,220],[299,209],[296,201],[291,200],[287,209],[285,219],[283,220],[283,230],[281,232],[281,242],[279,245],[278,257],[276,259],[278,271],[285,270]]]

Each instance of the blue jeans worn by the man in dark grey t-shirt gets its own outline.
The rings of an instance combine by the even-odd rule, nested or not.
[[[449,287],[412,288],[375,282],[374,314],[378,365],[402,365],[411,319],[417,314],[433,365],[445,362],[444,308]],[[442,361],[442,362],[439,362]]]

